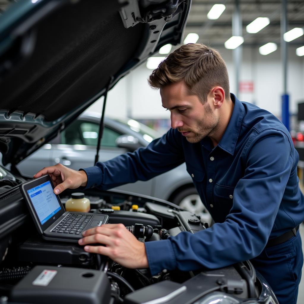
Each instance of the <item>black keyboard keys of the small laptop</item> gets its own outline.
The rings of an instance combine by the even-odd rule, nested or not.
[[[52,232],[80,234],[91,217],[89,214],[69,213]]]

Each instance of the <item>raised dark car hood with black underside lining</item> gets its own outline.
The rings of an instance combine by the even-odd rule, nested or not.
[[[19,161],[167,43],[191,0],[21,0],[0,17],[0,151]]]

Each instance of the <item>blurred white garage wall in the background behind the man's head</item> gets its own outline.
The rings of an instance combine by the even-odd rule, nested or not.
[[[230,92],[235,92],[235,71],[232,51],[219,49],[226,61],[230,77]],[[281,95],[283,92],[282,63],[280,49],[263,56],[257,48],[243,48],[240,81],[253,81],[253,93],[240,93],[238,98],[252,102],[281,117]],[[147,78],[152,70],[143,64],[131,72],[108,93],[106,115],[111,117],[132,116],[134,119],[169,118],[161,106],[159,92],[152,90]],[[295,47],[288,50],[289,111],[297,112],[297,102],[304,101],[304,57],[295,55]],[[89,110],[101,112],[102,101],[95,102]]]

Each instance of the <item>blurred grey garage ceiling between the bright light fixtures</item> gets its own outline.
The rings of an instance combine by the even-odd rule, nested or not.
[[[268,42],[280,44],[280,19],[282,1],[278,0],[239,0],[243,24],[243,45],[261,46]],[[214,4],[224,4],[226,9],[216,20],[209,20],[207,14]],[[192,0],[190,14],[185,30],[197,33],[201,43],[212,47],[223,47],[226,40],[232,36],[232,16],[235,12],[235,1]],[[304,26],[304,1],[287,1],[288,30]],[[246,26],[257,17],[268,17],[270,24],[256,34],[246,32]],[[294,45],[304,45],[304,36],[290,42]]]

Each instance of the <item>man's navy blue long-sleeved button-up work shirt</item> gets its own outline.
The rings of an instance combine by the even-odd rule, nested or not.
[[[148,180],[186,162],[203,204],[216,222],[209,229],[181,232],[145,243],[150,272],[221,268],[261,254],[268,238],[304,219],[299,190],[299,155],[285,126],[270,112],[234,102],[216,147],[209,137],[189,143],[177,129],[146,148],[85,169],[87,188],[109,189]]]

